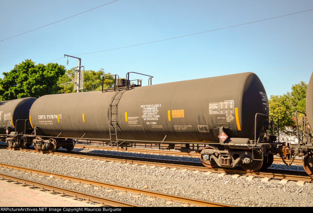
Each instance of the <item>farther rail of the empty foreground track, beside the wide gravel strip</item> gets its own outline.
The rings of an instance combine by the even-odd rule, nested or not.
[[[229,207],[230,206],[230,205],[226,205],[226,204],[197,200],[197,199],[193,199],[193,198],[170,195],[170,194],[161,193],[161,192],[148,191],[148,190],[137,189],[137,188],[128,187],[128,186],[120,186],[120,185],[115,185],[115,184],[110,184],[110,183],[105,183],[105,182],[100,182],[100,181],[88,180],[88,179],[84,179],[84,178],[78,178],[78,177],[73,177],[73,176],[56,174],[56,173],[40,171],[40,170],[35,170],[35,169],[28,169],[28,168],[24,168],[24,167],[20,167],[20,166],[6,165],[6,164],[2,164],[2,163],[0,163],[0,166],[15,169],[15,170],[20,170],[20,171],[36,173],[39,175],[46,175],[46,176],[52,175],[55,178],[61,178],[64,180],[90,184],[93,186],[112,188],[112,189],[116,189],[116,190],[120,190],[120,191],[132,192],[132,193],[142,193],[146,196],[155,196],[155,197],[161,198],[161,199],[172,200],[172,201],[196,205],[196,206],[209,206],[209,207],[213,207],[213,206],[214,207],[218,207],[218,206],[220,206],[220,207],[228,206]],[[73,191],[73,190],[70,190],[70,191]],[[61,193],[63,193],[63,192],[61,192]],[[67,193],[65,193],[65,194],[67,194]],[[83,198],[83,199],[85,199],[85,198]],[[88,198],[88,199],[90,199],[90,198]],[[85,199],[85,200],[87,200],[87,199]],[[90,200],[92,200],[92,199],[90,199]]]

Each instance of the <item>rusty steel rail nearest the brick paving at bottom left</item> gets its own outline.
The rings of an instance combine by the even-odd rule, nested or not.
[[[105,197],[101,197],[101,196],[96,196],[96,195],[91,195],[91,194],[80,192],[80,191],[74,191],[71,189],[66,189],[66,188],[59,187],[59,186],[53,186],[50,184],[32,181],[32,180],[28,180],[28,179],[24,179],[24,178],[20,178],[20,177],[16,177],[16,176],[6,175],[6,174],[2,174],[2,173],[0,173],[0,176],[3,177],[4,179],[8,179],[8,180],[15,181],[18,183],[23,183],[23,184],[27,184],[30,186],[35,186],[35,187],[46,189],[49,191],[55,191],[55,192],[58,192],[61,194],[66,194],[66,195],[73,196],[73,197],[79,197],[79,198],[84,199],[84,200],[90,200],[90,201],[100,203],[100,204],[102,203],[102,204],[108,205],[108,206],[113,206],[113,207],[141,207],[141,206],[138,206],[135,204],[130,204],[130,203],[122,202],[122,201],[116,201],[113,199],[109,199],[109,198],[105,198]]]

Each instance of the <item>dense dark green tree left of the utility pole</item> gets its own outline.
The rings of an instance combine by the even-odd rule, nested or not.
[[[35,65],[31,59],[26,59],[16,64],[10,72],[3,72],[0,95],[12,100],[59,93],[61,88],[57,82],[64,73],[65,67],[58,63]]]

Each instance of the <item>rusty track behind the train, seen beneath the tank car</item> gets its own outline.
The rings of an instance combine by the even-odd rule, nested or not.
[[[142,148],[117,148],[111,146],[95,146],[95,145],[84,145],[84,144],[76,144],[75,148],[78,149],[97,149],[97,150],[106,150],[106,151],[126,151],[126,152],[135,152],[135,153],[143,153],[143,154],[158,154],[158,155],[171,155],[171,156],[186,156],[186,157],[200,157],[199,153],[196,152],[177,152],[177,151],[169,151],[169,150],[150,150],[150,149],[142,149]],[[288,162],[288,160],[287,160]],[[274,158],[273,163],[283,163],[281,158]],[[302,159],[295,159],[293,161],[294,165],[302,165]]]

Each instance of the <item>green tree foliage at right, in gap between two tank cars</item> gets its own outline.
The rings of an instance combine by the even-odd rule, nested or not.
[[[296,134],[295,111],[305,112],[305,96],[307,87],[308,85],[301,81],[299,84],[292,85],[291,92],[287,92],[287,94],[282,96],[270,96],[269,115],[279,117],[280,132],[284,132],[288,135]],[[302,119],[302,117],[298,116],[298,124],[301,123],[299,122],[300,119]]]

